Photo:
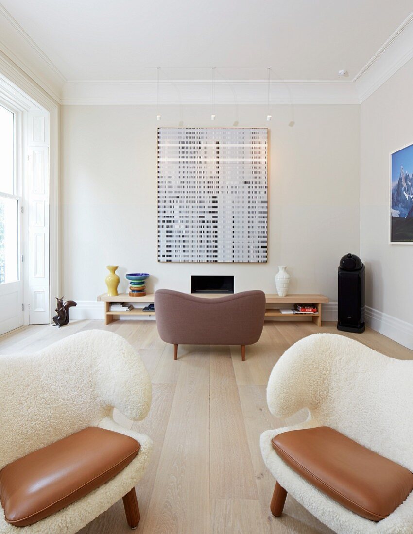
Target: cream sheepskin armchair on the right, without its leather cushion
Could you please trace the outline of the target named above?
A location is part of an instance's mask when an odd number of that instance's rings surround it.
[[[413,532],[413,492],[386,519],[369,521],[349,511],[294,472],[271,439],[288,430],[332,427],[413,472],[413,361],[388,358],[336,334],[298,341],[278,360],[267,387],[272,414],[288,418],[308,409],[300,425],[267,430],[260,444],[277,482],[339,534]]]

